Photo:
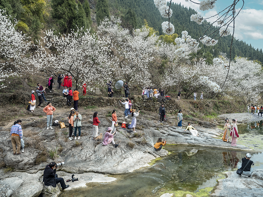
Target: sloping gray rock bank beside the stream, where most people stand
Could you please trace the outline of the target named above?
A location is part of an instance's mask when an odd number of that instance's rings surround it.
[[[110,108],[109,108],[110,109]],[[105,133],[108,126],[111,126],[111,117],[100,114],[108,114],[108,108],[96,109],[98,118],[101,121],[99,133]],[[120,108],[122,109],[122,108]],[[223,130],[216,128],[214,123],[205,123],[206,127],[193,124],[198,130],[201,137],[195,137],[188,131],[178,129],[175,126],[177,117],[169,116],[168,123],[158,123],[158,116],[155,114],[140,114],[137,117],[137,134],[127,133],[127,129],[118,127],[117,134],[114,136],[115,142],[120,146],[115,149],[112,145],[103,146],[100,141],[92,140],[92,110],[79,109],[82,114],[82,136],[80,140],[68,140],[68,128],[54,130],[46,130],[46,118],[41,117],[43,114],[40,110],[36,111],[39,116],[32,116],[22,119],[23,133],[25,140],[25,152],[20,156],[12,154],[12,146],[10,140],[10,130],[12,122],[5,127],[0,128],[1,140],[1,157],[0,169],[3,176],[0,178],[1,191],[6,188],[14,193],[15,190],[21,189],[21,184],[29,180],[41,182],[44,167],[47,163],[53,161],[47,158],[46,161],[39,162],[38,159],[44,153],[52,151],[56,148],[58,151],[57,163],[64,161],[65,165],[58,170],[58,175],[64,179],[69,179],[71,174],[76,174],[75,177],[89,177],[92,180],[84,180],[70,184],[67,190],[83,187],[84,185],[97,180],[96,176],[101,176],[105,180],[114,181],[112,177],[105,177],[106,174],[125,174],[133,172],[136,169],[149,166],[149,162],[160,157],[166,156],[168,151],[155,151],[153,145],[159,137],[167,141],[167,144],[191,144],[204,147],[218,147],[228,150],[244,150],[252,151],[251,147],[246,144],[238,144],[236,147],[231,147],[230,143],[223,142],[220,136]],[[30,112],[29,112],[30,113]],[[67,110],[60,109],[55,112],[54,120],[67,123]],[[157,116],[157,117],[156,117]],[[131,118],[123,118],[122,110],[117,111],[118,123],[130,122]],[[187,122],[183,121],[183,127],[186,128]],[[209,128],[207,128],[209,127]],[[4,165],[6,167],[4,167]],[[83,174],[96,173],[96,174]],[[18,180],[18,181],[17,181]],[[98,182],[98,181],[96,181]],[[100,181],[99,181],[100,182]],[[8,187],[6,187],[8,186]],[[38,187],[41,189],[41,186]],[[36,191],[35,188],[31,190]],[[59,189],[58,189],[59,190]],[[58,196],[59,191],[53,196]],[[1,195],[1,194],[0,194]],[[27,197],[28,194],[27,194]]]

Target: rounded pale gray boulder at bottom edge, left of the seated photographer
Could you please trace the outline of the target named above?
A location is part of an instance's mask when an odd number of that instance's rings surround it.
[[[38,181],[25,181],[13,193],[13,197],[37,197],[43,185]]]

